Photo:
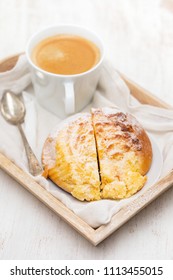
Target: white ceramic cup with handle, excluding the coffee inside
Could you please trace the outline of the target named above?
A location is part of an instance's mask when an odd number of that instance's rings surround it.
[[[86,38],[100,49],[100,60],[86,72],[74,75],[53,74],[39,68],[31,60],[33,48],[45,38],[58,34],[77,35]],[[26,47],[31,79],[36,98],[48,111],[66,117],[82,110],[91,101],[96,89],[104,58],[102,41],[93,32],[76,25],[50,26],[34,34]]]

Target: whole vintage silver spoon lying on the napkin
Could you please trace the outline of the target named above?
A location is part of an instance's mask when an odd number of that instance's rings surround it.
[[[5,91],[1,99],[0,109],[5,120],[16,125],[20,131],[28,159],[29,172],[33,176],[41,174],[43,172],[42,167],[34,155],[21,126],[26,112],[24,103],[13,92]]]

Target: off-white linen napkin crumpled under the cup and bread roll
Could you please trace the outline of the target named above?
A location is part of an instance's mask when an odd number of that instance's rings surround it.
[[[12,89],[16,93],[23,90],[26,105],[26,118],[23,124],[26,136],[38,159],[41,161],[41,151],[44,141],[54,126],[61,121],[37,104],[25,55],[21,55],[15,68],[0,74],[0,97],[4,89]],[[156,145],[154,159],[149,172],[148,183],[136,195],[121,201],[101,200],[95,202],[80,202],[70,194],[55,186],[51,181],[41,176],[34,178],[68,208],[85,220],[92,227],[106,224],[123,205],[132,201],[158,178],[172,169],[173,155],[173,110],[160,109],[149,105],[141,105],[130,95],[129,89],[116,70],[105,63],[98,88],[93,101],[84,111],[91,107],[118,106],[122,111],[132,113],[149,132],[152,139],[159,145],[162,157]],[[28,172],[27,159],[19,132],[15,126],[8,124],[0,116],[0,151],[12,159],[16,165]]]

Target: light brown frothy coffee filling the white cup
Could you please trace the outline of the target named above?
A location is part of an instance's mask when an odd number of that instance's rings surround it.
[[[61,34],[39,42],[32,51],[31,59],[47,72],[74,75],[96,65],[100,59],[100,50],[90,40]]]

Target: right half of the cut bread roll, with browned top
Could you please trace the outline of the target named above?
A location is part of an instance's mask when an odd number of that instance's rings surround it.
[[[117,109],[92,109],[99,168],[101,197],[127,198],[146,182],[152,161],[150,140],[130,114]]]

